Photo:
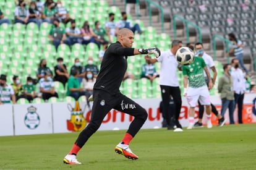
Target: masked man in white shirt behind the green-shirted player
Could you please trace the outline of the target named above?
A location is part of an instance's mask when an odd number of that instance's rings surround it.
[[[195,43],[195,56],[199,56],[203,58],[203,61],[205,61],[205,64],[207,65],[207,70],[209,73],[211,73],[211,70],[213,71],[213,85],[215,84],[216,81],[216,77],[217,77],[217,71],[215,69],[215,64],[213,62],[213,58],[211,56],[209,56],[207,53],[205,53],[205,51],[203,51],[203,44],[202,43]],[[203,75],[205,77],[205,81],[208,84],[208,78],[207,78],[207,74],[205,73],[205,71],[203,71]],[[205,111],[205,106],[203,106],[199,101],[198,101],[198,107],[199,107],[199,116],[198,116],[198,122],[195,123],[194,127],[203,127],[202,124],[202,119],[203,119],[203,113]],[[216,117],[218,117],[219,120],[219,125],[223,126],[226,122],[226,119],[224,119],[223,116],[221,116],[220,113],[218,113],[216,107],[211,103],[211,112],[213,114],[215,114]]]

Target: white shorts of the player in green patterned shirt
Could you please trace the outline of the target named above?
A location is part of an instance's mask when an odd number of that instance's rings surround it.
[[[187,102],[190,107],[195,107],[198,104],[198,101],[202,105],[210,105],[210,93],[207,86],[192,88],[189,87],[187,89]]]

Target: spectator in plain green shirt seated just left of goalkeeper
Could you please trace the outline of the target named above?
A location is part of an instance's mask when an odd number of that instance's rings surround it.
[[[78,100],[80,96],[85,95],[83,88],[80,88],[79,71],[77,69],[71,70],[71,76],[67,80],[67,93],[66,96],[72,96],[75,100]]]

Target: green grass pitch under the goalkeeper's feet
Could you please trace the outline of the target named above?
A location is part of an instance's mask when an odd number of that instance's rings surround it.
[[[256,124],[173,132],[142,129],[130,143],[139,156],[114,153],[125,130],[98,131],[63,164],[78,133],[0,137],[0,169],[256,169]]]

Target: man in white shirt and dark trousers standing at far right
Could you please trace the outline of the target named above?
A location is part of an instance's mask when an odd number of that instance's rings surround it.
[[[232,59],[231,65],[231,77],[233,78],[235,104],[237,104],[238,108],[238,122],[239,124],[242,124],[242,106],[244,103],[244,92],[246,90],[244,74],[242,70],[239,69],[238,59]]]

